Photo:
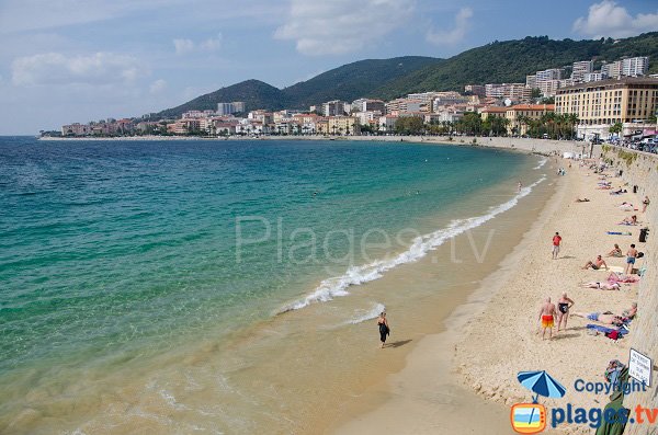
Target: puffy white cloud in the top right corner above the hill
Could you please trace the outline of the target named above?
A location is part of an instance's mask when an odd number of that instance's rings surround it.
[[[587,16],[580,16],[574,22],[574,32],[594,38],[627,37],[657,28],[658,11],[632,16],[626,8],[617,5],[612,0],[592,4]]]

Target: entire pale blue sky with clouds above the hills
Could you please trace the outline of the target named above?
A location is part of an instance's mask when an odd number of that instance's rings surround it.
[[[658,31],[646,0],[0,0],[0,135],[133,117],[371,58]]]

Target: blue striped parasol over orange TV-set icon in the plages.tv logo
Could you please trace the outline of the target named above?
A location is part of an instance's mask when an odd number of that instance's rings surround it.
[[[519,382],[535,396],[532,403],[517,403],[512,407],[510,420],[512,428],[520,434],[537,434],[546,428],[546,407],[537,403],[537,398],[561,398],[567,392],[557,380],[545,370],[520,371]]]

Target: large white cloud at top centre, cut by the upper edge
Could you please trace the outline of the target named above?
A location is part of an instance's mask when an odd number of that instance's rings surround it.
[[[358,51],[404,25],[415,5],[415,0],[292,0],[274,37],[295,41],[304,55]]]

